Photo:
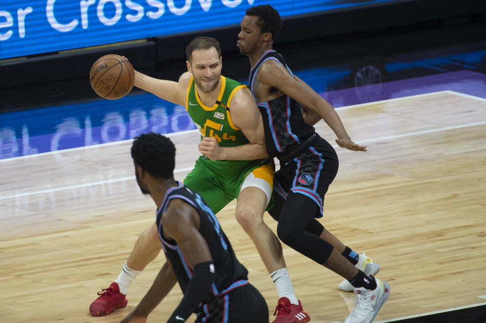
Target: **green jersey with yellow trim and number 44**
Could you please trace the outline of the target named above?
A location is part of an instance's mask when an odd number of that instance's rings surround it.
[[[216,138],[221,147],[248,144],[243,132],[231,121],[230,104],[235,93],[247,87],[230,78],[221,77],[221,90],[212,107],[207,107],[197,94],[194,78],[191,76],[187,87],[186,110],[203,137]]]

